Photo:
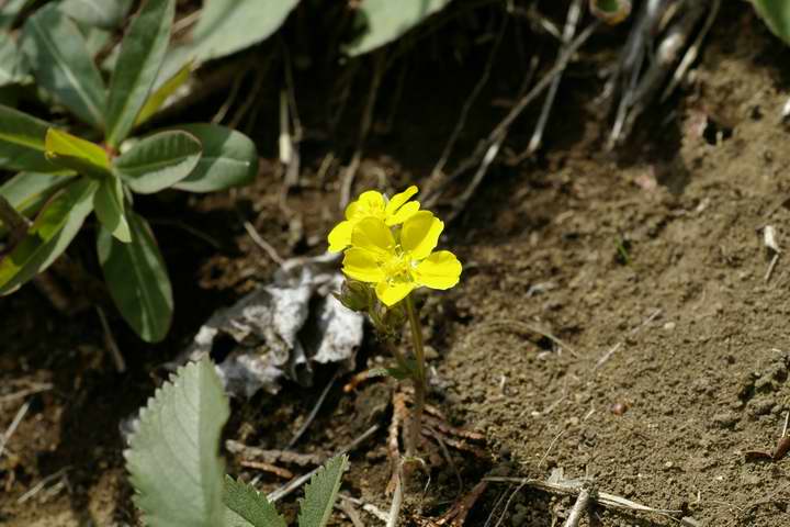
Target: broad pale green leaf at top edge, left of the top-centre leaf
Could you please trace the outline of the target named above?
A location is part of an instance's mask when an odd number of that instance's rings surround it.
[[[298,0],[203,0],[192,33],[194,58],[224,57],[257,44],[285,22]]]

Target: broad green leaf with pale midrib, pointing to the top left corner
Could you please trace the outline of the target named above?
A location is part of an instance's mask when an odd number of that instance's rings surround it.
[[[42,88],[86,123],[104,128],[104,82],[74,21],[57,5],[45,5],[25,22],[22,49]]]

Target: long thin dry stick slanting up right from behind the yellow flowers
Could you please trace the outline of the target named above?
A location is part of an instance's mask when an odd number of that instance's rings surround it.
[[[543,91],[549,88],[554,77],[565,69],[567,63],[571,60],[573,55],[578,51],[579,47],[584,45],[585,42],[587,42],[587,40],[592,35],[592,33],[595,33],[595,31],[600,26],[600,24],[601,21],[596,20],[590,25],[588,25],[585,31],[583,31],[572,44],[568,45],[567,49],[565,49],[562,56],[557,59],[557,63],[554,65],[554,67],[552,67],[526,96],[519,99],[516,105],[510,109],[505,119],[503,119],[499,124],[488,134],[488,137],[477,144],[477,148],[475,148],[475,152],[464,161],[459,164],[459,167],[453,171],[451,176],[449,176],[447,179],[444,179],[444,181],[437,186],[437,191],[435,192],[435,194],[426,200],[427,206],[432,206],[433,204],[436,204],[439,199],[439,193],[450,182],[452,182],[466,170],[476,165],[478,162],[478,159],[482,159],[483,161],[481,165],[481,169],[478,169],[473,183],[465,192],[465,194],[471,197],[479,182],[483,180],[483,177],[485,176],[485,170],[487,169],[488,165],[490,165],[490,162],[496,157],[499,146],[507,137],[510,125],[512,125],[512,123],[521,115],[521,113],[527,109],[527,106],[529,106],[532,101],[534,101],[541,93],[543,93]],[[456,212],[453,214],[453,217],[458,216],[458,210],[459,208],[455,208]]]

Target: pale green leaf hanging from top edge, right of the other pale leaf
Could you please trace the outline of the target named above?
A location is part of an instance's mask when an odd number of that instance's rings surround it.
[[[362,55],[388,44],[448,3],[450,0],[365,0],[358,11],[365,32],[346,52]]]

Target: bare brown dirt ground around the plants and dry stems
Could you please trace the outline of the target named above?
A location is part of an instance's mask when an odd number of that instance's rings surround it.
[[[747,453],[772,451],[790,412],[790,269],[782,254],[768,277],[764,245],[770,226],[778,245],[790,246],[790,124],[781,117],[790,52],[748,5],[727,7],[691,86],[610,154],[601,146],[606,115],[595,102],[602,82],[590,72],[610,44],[601,38],[568,71],[546,153],[495,166],[447,232],[443,244],[465,271],[460,287],[431,295],[422,309],[433,351],[430,397],[450,425],[481,433],[485,442],[444,445],[448,455],[426,446],[430,482],[422,482],[425,492],[413,490],[405,525],[441,516],[461,493],[459,479],[467,492],[486,474],[544,480],[554,469],[698,522],[686,525],[790,525],[790,460]],[[388,190],[426,178],[475,71],[469,64],[437,71],[430,57],[416,61],[409,79],[424,82],[404,91],[391,130],[368,145],[358,190],[377,186],[382,175]],[[473,112],[461,146],[471,149],[497,122],[503,109],[489,103],[508,93],[507,81],[484,93],[488,102]],[[305,105],[309,130],[313,109]],[[377,119],[383,127],[386,109]],[[514,131],[515,149],[529,138],[524,121]],[[346,133],[354,131],[356,124]],[[180,220],[217,244],[154,222],[167,261],[179,266],[171,268],[176,326],[150,347],[114,321],[126,373],[115,372],[93,311],[60,315],[31,287],[2,300],[0,430],[30,405],[0,458],[0,525],[136,525],[120,423],[214,309],[273,271],[241,228],[239,211],[282,256],[321,250],[338,217],[337,175],[317,176],[323,141],[306,143],[305,176],[286,201],[289,213],[278,205],[274,156],[264,153],[252,188],[182,199],[189,212]],[[149,206],[165,216],[160,205]],[[86,244],[86,260],[90,249]],[[377,355],[371,338],[360,367]],[[321,372],[316,384],[331,373]],[[386,511],[392,384],[371,382],[352,394],[340,384],[296,450],[326,453],[379,424],[352,453],[343,492]],[[291,385],[278,397],[235,402],[226,436],[282,448],[318,392]],[[256,474],[233,458],[229,467]],[[283,480],[269,474],[261,482],[269,491]],[[515,490],[490,483],[466,525],[561,525],[573,504],[529,486]],[[360,514],[365,525],[381,525]],[[351,525],[340,513],[335,522]],[[596,507],[583,525],[678,522]]]

